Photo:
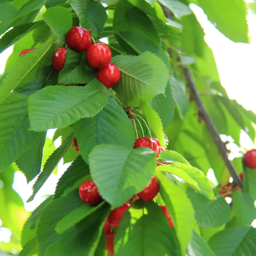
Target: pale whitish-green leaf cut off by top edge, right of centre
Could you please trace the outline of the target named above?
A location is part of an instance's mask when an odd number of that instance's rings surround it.
[[[185,3],[182,3],[181,1],[160,0],[159,2],[163,6],[166,6],[168,9],[170,9],[178,19],[181,19],[181,17],[184,15],[189,15],[192,13],[192,11],[189,9],[189,6],[187,6]]]

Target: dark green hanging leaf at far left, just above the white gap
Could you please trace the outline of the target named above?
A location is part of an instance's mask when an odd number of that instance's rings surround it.
[[[20,171],[26,176],[27,183],[41,171],[45,136],[45,132],[38,133],[35,144],[23,152],[15,161]]]

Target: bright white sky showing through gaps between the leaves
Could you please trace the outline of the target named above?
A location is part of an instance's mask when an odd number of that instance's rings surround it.
[[[236,99],[247,110],[256,113],[256,15],[248,14],[247,21],[249,24],[249,35],[251,37],[250,44],[234,43],[226,38],[221,32],[207,20],[207,16],[198,6],[190,5],[191,9],[198,17],[199,22],[204,28],[206,34],[205,41],[212,48],[215,61],[217,63],[218,72],[220,74],[221,83],[227,90],[230,99]],[[0,54],[0,74],[3,73],[6,60],[12,53],[12,47],[9,47]],[[53,136],[54,131],[50,130],[47,135]],[[60,145],[60,140],[55,146]],[[241,145],[250,149],[253,144],[247,141],[246,136],[242,139]],[[43,200],[45,195],[52,194],[55,190],[56,183],[67,169],[69,164],[63,166],[63,161],[58,166],[58,175],[51,175],[43,188],[38,192],[34,201],[25,203],[32,194],[33,181],[26,183],[26,177],[21,172],[15,173],[15,181],[13,188],[20,194],[24,201],[25,208],[28,211],[35,209]],[[1,236],[0,241],[6,240],[6,232]],[[8,240],[8,239],[7,239]]]

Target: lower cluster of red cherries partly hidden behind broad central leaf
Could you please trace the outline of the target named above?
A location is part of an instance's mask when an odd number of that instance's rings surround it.
[[[79,147],[77,145],[77,140],[73,141],[73,147],[76,151],[79,151]],[[160,143],[157,139],[151,139],[148,137],[138,138],[134,143],[134,148],[146,147],[150,148],[153,151],[157,152],[157,157],[159,153],[165,148],[160,146]],[[159,164],[167,164],[167,163],[159,163]],[[120,207],[117,207],[113,211],[110,212],[108,218],[104,224],[104,232],[106,238],[106,250],[108,254],[114,255],[114,238],[115,238],[115,230],[119,226],[119,223],[122,219],[122,216],[125,214],[125,211],[131,206],[131,202],[136,201],[140,198],[142,201],[151,201],[159,192],[160,185],[157,181],[157,178],[154,176],[151,178],[151,182],[148,186],[145,187],[141,192],[134,196],[131,200],[126,202]],[[93,180],[86,180],[79,187],[79,195],[82,201],[87,204],[97,205],[103,201],[101,195],[98,192],[98,188]],[[170,228],[173,227],[173,222],[171,216],[166,208],[166,206],[160,206],[163,214],[166,216]]]

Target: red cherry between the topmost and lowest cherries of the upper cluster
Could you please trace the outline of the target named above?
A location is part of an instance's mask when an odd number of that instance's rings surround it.
[[[91,67],[105,67],[110,63],[111,58],[111,49],[106,44],[91,44],[86,51],[86,60]]]

